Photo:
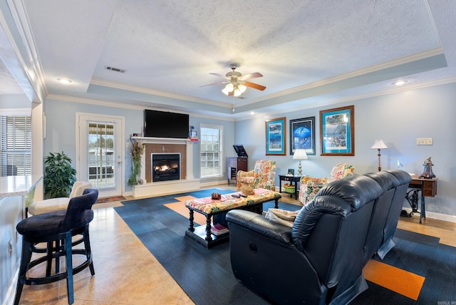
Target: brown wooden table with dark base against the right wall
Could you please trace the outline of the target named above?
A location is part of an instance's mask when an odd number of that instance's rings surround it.
[[[411,189],[405,195],[405,199],[412,207],[412,212],[403,212],[404,216],[412,217],[414,212],[418,212],[418,192],[421,192],[420,223],[422,218],[426,218],[425,197],[435,197],[437,195],[438,178],[423,178],[413,176],[408,187]]]

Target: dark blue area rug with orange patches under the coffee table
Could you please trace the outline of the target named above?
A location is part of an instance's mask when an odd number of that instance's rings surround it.
[[[229,242],[205,249],[185,237],[189,226],[182,205],[190,197],[208,197],[202,190],[179,195],[124,201],[115,207],[145,247],[177,281],[195,304],[269,304],[234,278],[229,259]],[[175,205],[181,212],[175,212]],[[273,207],[266,202],[264,210]],[[300,207],[279,202],[279,208]],[[195,213],[197,214],[197,213]],[[456,249],[440,244],[439,239],[397,229],[396,246],[381,261],[368,263],[364,274],[369,289],[351,304],[437,304],[456,301],[452,286],[456,282]],[[394,284],[401,283],[402,285]],[[442,303],[445,304],[445,303]]]

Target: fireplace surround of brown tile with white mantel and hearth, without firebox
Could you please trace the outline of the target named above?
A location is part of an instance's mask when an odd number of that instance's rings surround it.
[[[193,142],[189,139],[133,137],[145,144],[141,158],[140,178],[144,183],[133,186],[133,197],[145,197],[199,189],[193,177]],[[152,182],[152,153],[180,153],[180,180]]]

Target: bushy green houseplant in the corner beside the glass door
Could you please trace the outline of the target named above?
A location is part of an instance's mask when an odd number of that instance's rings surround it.
[[[68,197],[76,181],[71,158],[61,153],[49,153],[44,160],[44,195],[46,198]]]

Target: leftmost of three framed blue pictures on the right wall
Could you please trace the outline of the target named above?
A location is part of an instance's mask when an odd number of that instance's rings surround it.
[[[266,120],[266,155],[285,155],[286,118]]]

